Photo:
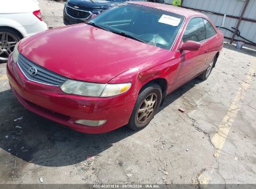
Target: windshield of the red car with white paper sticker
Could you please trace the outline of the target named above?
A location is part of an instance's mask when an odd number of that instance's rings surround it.
[[[183,16],[172,12],[125,3],[99,14],[88,24],[169,50],[183,21]]]

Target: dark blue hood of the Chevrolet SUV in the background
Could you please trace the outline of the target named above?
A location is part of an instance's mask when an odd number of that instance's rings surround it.
[[[115,6],[115,4],[120,2],[106,0],[71,0],[69,3],[72,6],[90,7],[92,9],[108,9],[109,7]]]

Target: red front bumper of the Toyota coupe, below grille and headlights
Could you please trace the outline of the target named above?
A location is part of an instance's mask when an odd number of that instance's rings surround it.
[[[19,102],[33,113],[69,126],[79,132],[103,133],[124,126],[130,119],[136,98],[131,89],[111,98],[92,98],[63,93],[58,86],[29,81],[10,56],[7,63],[10,86]],[[76,124],[77,119],[104,120],[102,126]]]

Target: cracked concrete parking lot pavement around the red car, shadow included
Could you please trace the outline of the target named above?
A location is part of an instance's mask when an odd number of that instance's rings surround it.
[[[64,3],[39,2],[62,26]],[[255,50],[225,44],[211,76],[170,94],[142,131],[82,134],[23,108],[2,63],[0,183],[255,184],[255,70]]]

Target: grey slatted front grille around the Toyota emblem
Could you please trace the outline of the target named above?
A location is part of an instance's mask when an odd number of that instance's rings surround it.
[[[61,76],[57,73],[54,73],[53,71],[47,70],[37,65],[36,63],[21,55],[21,53],[19,54],[17,64],[28,80],[53,86],[60,86],[65,81],[67,81],[67,78],[64,76]],[[31,75],[29,73],[29,69],[32,67],[36,68],[36,75]]]

